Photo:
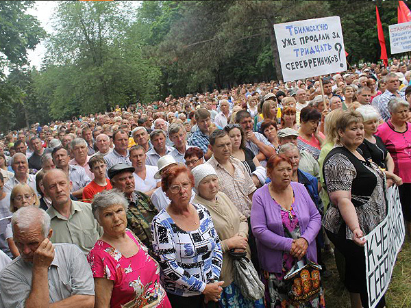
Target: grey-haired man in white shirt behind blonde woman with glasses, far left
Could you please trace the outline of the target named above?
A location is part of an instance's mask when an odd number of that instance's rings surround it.
[[[26,155],[23,153],[14,154],[11,166],[14,171],[14,176],[4,184],[4,191],[11,193],[14,186],[21,183],[28,184],[35,192],[37,192],[36,176],[27,173],[29,170],[29,162],[27,161]]]

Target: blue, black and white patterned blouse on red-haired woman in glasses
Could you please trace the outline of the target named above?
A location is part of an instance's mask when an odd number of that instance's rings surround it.
[[[162,209],[151,223],[153,251],[160,257],[164,289],[178,296],[201,294],[206,284],[220,277],[223,255],[219,235],[206,207],[193,204],[199,214],[199,229],[184,231]]]

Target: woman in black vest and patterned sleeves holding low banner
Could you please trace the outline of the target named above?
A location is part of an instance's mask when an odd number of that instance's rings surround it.
[[[331,201],[323,219],[325,232],[345,257],[344,284],[351,307],[369,307],[364,235],[386,217],[386,183],[382,170],[357,151],[364,140],[360,113],[343,112],[336,122],[338,141],[325,157],[323,172]],[[377,307],[384,307],[384,297]]]

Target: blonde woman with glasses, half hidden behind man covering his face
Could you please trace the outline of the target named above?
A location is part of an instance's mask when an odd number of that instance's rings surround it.
[[[28,207],[29,205],[40,205],[38,196],[33,188],[27,184],[17,184],[14,186],[10,194],[10,211],[14,213],[21,207]],[[5,240],[8,242],[10,252],[13,257],[18,257],[18,249],[13,240],[12,224],[8,224],[5,228]]]

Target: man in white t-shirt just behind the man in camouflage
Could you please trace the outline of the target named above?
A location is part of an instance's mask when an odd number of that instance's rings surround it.
[[[134,167],[133,175],[136,190],[144,192],[147,196],[151,196],[154,190],[161,185],[160,179],[154,179],[158,167],[145,164],[145,149],[140,145],[132,146],[132,148],[129,149],[129,155],[132,166]]]

